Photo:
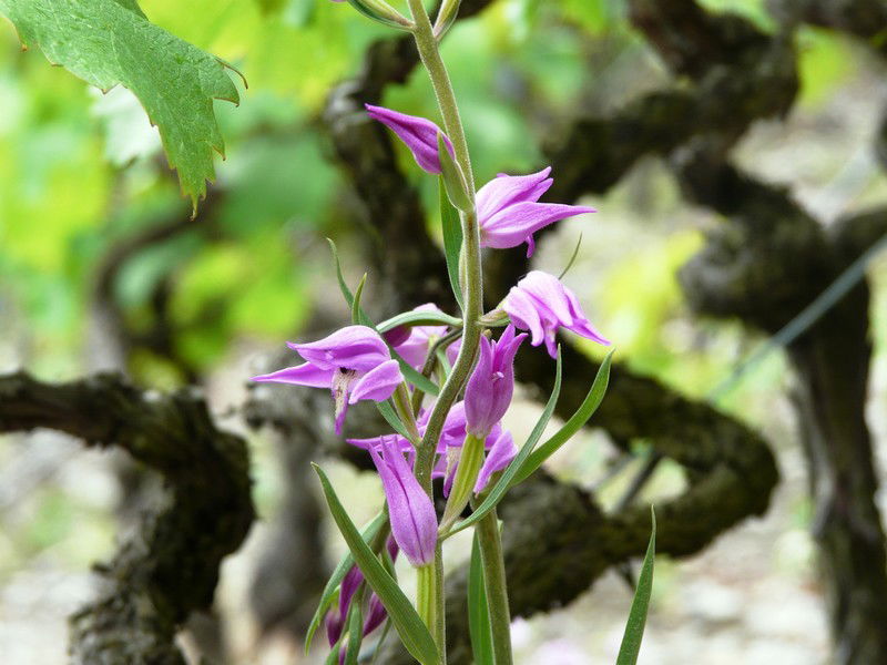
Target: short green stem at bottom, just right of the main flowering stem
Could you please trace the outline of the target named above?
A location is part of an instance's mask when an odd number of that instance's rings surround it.
[[[476,529],[480,543],[480,559],[483,563],[496,665],[511,665],[511,612],[508,607],[506,565],[496,509],[487,513]]]

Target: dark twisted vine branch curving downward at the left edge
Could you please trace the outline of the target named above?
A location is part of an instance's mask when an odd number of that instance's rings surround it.
[[[37,428],[118,446],[164,480],[163,501],[96,566],[103,589],[71,618],[71,663],[184,665],[175,633],[211,606],[218,566],[253,521],[245,442],[216,429],[188,390],[142,392],[115,375],[0,377],[0,432]]]

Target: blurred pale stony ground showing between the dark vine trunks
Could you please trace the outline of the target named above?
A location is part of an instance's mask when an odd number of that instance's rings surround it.
[[[867,146],[874,121],[887,100],[887,85],[871,73],[873,70],[868,71],[869,75],[848,83],[842,94],[815,113],[798,112],[788,125],[759,124],[744,141],[741,161],[765,177],[791,183],[803,203],[826,219],[865,203],[883,201],[884,178],[877,174]],[[816,155],[813,158],[808,158],[807,153],[799,155],[798,145],[813,145]],[[823,155],[828,158],[822,158]],[[649,168],[660,167],[652,163],[639,166],[639,171]],[[631,192],[635,185],[624,184],[623,193]],[[605,209],[605,202],[594,203]],[[716,223],[711,216],[685,208],[675,212],[653,206],[651,217],[642,226],[620,219],[621,224],[608,227],[601,219],[599,239],[603,237],[610,254],[600,246],[589,248],[587,242],[568,282],[587,284],[584,278],[615,260],[629,241],[633,249],[655,249],[674,226],[699,228]],[[562,257],[569,255],[577,236],[575,225],[567,225],[559,239],[542,248],[541,264],[562,265]],[[589,267],[590,264],[597,267]],[[877,304],[873,314],[879,338],[885,339],[885,257],[878,260],[875,273]],[[592,313],[595,300],[593,288],[583,290],[583,304]],[[614,328],[619,328],[616,324],[613,323]],[[695,335],[692,325],[682,320],[672,324],[669,334],[683,330],[679,335],[684,340],[681,344],[692,348],[686,341]],[[0,370],[4,371],[11,369],[20,356],[11,344],[3,344],[0,339]],[[738,357],[745,355],[742,347],[740,351]],[[245,366],[246,362],[239,360],[226,370],[225,378],[214,381],[213,396],[218,409],[238,401],[242,377],[248,375]],[[744,522],[695,557],[656,562],[654,598],[640,658],[643,665],[816,665],[827,662],[826,624],[813,567],[813,548],[806,532],[808,505],[804,466],[791,409],[779,397],[791,379],[779,374],[779,367],[777,362],[775,385],[771,380],[763,396],[750,397],[746,411],[774,442],[778,454],[783,479],[772,508],[764,519]],[[773,372],[772,366],[768,371]],[[755,385],[755,378],[748,381]],[[887,354],[879,348],[871,381],[869,423],[878,450],[883,487],[887,487],[884,471],[887,469],[886,402]],[[511,419],[516,431],[527,427],[530,410],[514,410],[520,413]],[[275,487],[279,487],[281,481],[275,478],[268,443],[261,438],[253,443],[258,503],[267,515],[273,510]],[[553,467],[570,480],[588,484],[600,471],[605,451],[600,438],[585,437],[561,451]],[[337,484],[353,488],[354,497],[363,492],[378,495],[378,488],[369,475],[358,478],[344,467],[335,467],[333,478]],[[47,500],[48,487],[60,492],[55,503]],[[680,473],[665,468],[653,490],[669,492],[677,487]],[[611,500],[618,490],[619,481],[608,489]],[[88,573],[90,562],[113,551],[114,525],[109,515],[118,498],[106,454],[84,452],[77,442],[50,433],[29,439],[0,439],[0,521],[3,524],[0,531],[0,663],[57,665],[64,662],[65,617],[93,595],[94,580]],[[887,512],[887,491],[883,490],[878,499],[881,510]],[[367,509],[367,514],[361,514],[363,509],[356,501],[348,503],[355,507],[357,520],[371,512]],[[23,556],[17,539],[37,516],[42,515],[45,522],[47,516],[41,511],[47,510],[65,514],[73,528],[60,528],[58,533],[50,530],[45,542]],[[243,614],[244,583],[265,529],[264,523],[257,523],[242,551],[225,563],[220,606],[227,615],[230,642],[238,654],[238,663],[296,663],[300,654],[296,645],[278,641],[266,645],[258,654],[249,648],[252,631]],[[332,532],[330,543],[334,550],[340,550],[341,544]],[[518,662],[612,663],[630,602],[631,593],[625,584],[610,574],[570,607],[516,622],[513,638]]]

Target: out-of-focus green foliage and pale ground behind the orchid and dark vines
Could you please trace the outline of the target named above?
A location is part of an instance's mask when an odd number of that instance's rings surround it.
[[[778,29],[757,0],[701,3],[736,12],[766,34]],[[279,355],[285,340],[347,319],[324,238],[339,245],[351,283],[365,258],[354,231],[355,196],[322,117],[334,86],[354,76],[367,47],[389,33],[347,6],[320,0],[194,0],[186,11],[172,0],[140,4],[152,22],[231,62],[248,82],[248,89],[237,82],[238,106],[215,103],[225,158],[217,160],[216,182],[191,222],[190,203],[135,98],[121,88],[90,89],[50,66],[37,48],[20,52],[14,29],[0,21],[0,374],[24,368],[64,381],[118,370],[142,387],[202,386],[220,424],[248,440],[258,516],[245,544],[225,560],[215,617],[204,622],[214,637],[202,633],[198,618],[182,644],[191,654],[206,653],[215,640],[231,663],[302,662],[295,630],[266,630],[251,600],[290,479],[273,436],[246,427],[241,407],[248,377],[269,355],[295,360]],[[478,182],[539,168],[549,132],[578,111],[606,115],[675,84],[626,16],[620,0],[497,0],[456,25],[443,57]],[[787,187],[828,226],[887,200],[873,149],[887,105],[885,63],[838,31],[804,24],[795,40],[801,88],[791,113],[754,123],[732,160]],[[387,86],[384,103],[437,115],[420,70]],[[434,211],[435,180],[396,150]],[[581,235],[564,280],[614,341],[618,358],[759,430],[782,477],[763,518],[744,521],[692,557],[660,557],[641,662],[828,662],[809,535],[814,510],[789,400],[796,379],[778,348],[731,379],[766,337],[740,320],[697,316],[676,278],[720,215],[689,204],[659,156],[638,160],[605,193],[582,202],[599,212],[546,235],[533,265],[558,274]],[[430,214],[435,237],[436,224]],[[883,488],[887,256],[870,262],[868,276],[874,354],[866,415]],[[509,415],[512,430],[529,431],[539,410],[534,395],[521,393]],[[642,453],[643,442],[635,448]],[[613,472],[616,457],[605,432],[589,431],[558,453],[551,471],[594,489],[612,507],[643,462],[639,454]],[[380,497],[375,478],[344,461],[327,466],[337,487],[349,488],[344,499],[355,521],[370,516]],[[65,662],[67,617],[95,593],[91,565],[112,556],[149,501],[134,495],[136,487],[150,495],[149,481],[132,482],[142,475],[123,453],[88,450],[62,434],[0,437],[3,663]],[[685,482],[681,468],[665,460],[639,501],[677,493]],[[884,513],[887,493],[881,489],[876,499]],[[323,530],[323,565],[329,565],[343,543],[330,526]],[[465,543],[453,544],[452,556],[465,556]],[[611,571],[570,606],[518,620],[519,662],[612,662],[631,595]]]

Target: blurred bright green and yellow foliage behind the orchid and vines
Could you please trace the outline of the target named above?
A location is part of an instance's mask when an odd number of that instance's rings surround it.
[[[774,29],[763,0],[704,4]],[[325,0],[195,0],[187,11],[172,0],[144,0],[141,7],[152,22],[231,62],[248,82],[239,106],[215,104],[227,160],[217,163],[206,219],[146,245],[113,275],[111,297],[131,334],[150,336],[160,318],[173,332],[172,349],[145,345],[129,359],[130,369],[144,381],[174,385],[187,378],[180,365],[205,372],[238,340],[278,344],[295,335],[326,291],[332,272],[316,238],[343,233],[349,213],[318,115],[367,44],[389,32]],[[480,182],[539,167],[539,144],[552,126],[580,106],[612,108],[598,91],[630,95],[659,81],[655,58],[624,14],[621,0],[499,0],[452,31],[443,55]],[[825,103],[857,66],[847,43],[823,31],[802,31],[798,50],[805,105]],[[7,22],[0,24],[0,320],[27,337],[19,346],[34,371],[72,376],[89,369],[88,313],[108,256],[181,221],[188,206],[137,102],[119,89],[108,95],[88,89],[39,52],[20,53]],[[390,88],[384,102],[436,117],[419,71]],[[397,149],[434,211],[434,178]],[[652,183],[653,195],[679,209],[669,176],[657,173]],[[643,215],[630,192],[603,201],[609,207],[594,202],[602,213],[583,229],[591,257],[609,238],[599,225]],[[695,347],[703,352],[687,354],[693,345],[681,326],[690,325],[689,315],[674,278],[662,276],[699,246],[694,224],[679,222],[599,277],[605,289],[594,308],[639,370],[703,395],[743,347],[737,328],[708,325],[706,344]],[[782,366],[773,367],[777,381]]]

